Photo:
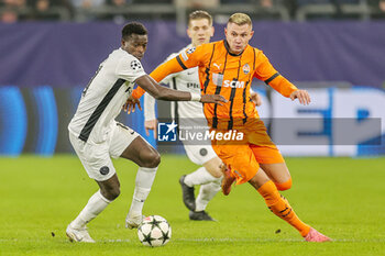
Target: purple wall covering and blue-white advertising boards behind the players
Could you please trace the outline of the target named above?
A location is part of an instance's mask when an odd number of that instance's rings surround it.
[[[170,53],[189,43],[176,33],[174,21],[144,21],[150,32],[143,59],[147,73]],[[292,102],[255,81],[263,96],[260,113],[285,155],[362,156],[385,154],[385,30],[382,21],[254,22],[251,45],[298,87],[309,89],[309,107]],[[0,154],[33,153],[51,156],[72,152],[67,124],[80,92],[108,54],[119,47],[122,25],[113,22],[0,24]],[[216,24],[213,40],[223,36]],[[158,103],[160,118],[169,116],[167,102]],[[293,119],[290,140],[282,142]],[[296,119],[316,119],[295,125]],[[349,118],[350,125],[338,125]],[[377,119],[377,122],[371,122]],[[120,121],[142,135],[143,114],[121,114]],[[373,127],[375,126],[375,127]],[[350,129],[349,129],[350,127]],[[370,127],[373,130],[371,131]],[[280,136],[279,136],[280,134]],[[339,136],[348,134],[341,142]],[[348,136],[345,135],[345,136]],[[153,136],[147,137],[155,145]],[[307,145],[306,147],[304,145]],[[312,146],[311,146],[312,145]],[[310,148],[310,149],[309,149]],[[180,146],[160,147],[183,153]]]

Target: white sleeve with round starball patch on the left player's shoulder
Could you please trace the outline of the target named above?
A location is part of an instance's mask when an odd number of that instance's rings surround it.
[[[139,77],[146,75],[141,62],[134,56],[120,58],[116,74],[119,78],[130,82],[134,82]]]

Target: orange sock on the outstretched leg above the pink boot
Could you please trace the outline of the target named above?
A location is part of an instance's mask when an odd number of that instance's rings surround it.
[[[275,215],[279,216],[293,225],[295,229],[297,229],[301,236],[306,236],[309,233],[310,226],[299,220],[297,214],[293,211],[288,201],[279,194],[272,180],[268,180],[266,183],[262,185],[257,191],[265,199],[268,209]]]

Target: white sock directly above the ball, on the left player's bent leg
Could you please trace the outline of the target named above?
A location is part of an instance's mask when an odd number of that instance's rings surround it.
[[[153,186],[156,170],[157,167],[139,167],[135,179],[134,196],[132,198],[132,203],[129,212],[130,215],[142,215],[144,201],[147,199],[151,187]]]

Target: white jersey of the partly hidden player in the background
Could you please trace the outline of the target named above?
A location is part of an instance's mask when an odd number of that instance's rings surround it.
[[[191,48],[191,45],[186,46],[179,53],[172,54],[167,57],[167,60],[176,57],[182,52]],[[200,81],[198,67],[189,68],[180,73],[170,74],[165,77],[162,84],[168,84],[174,90],[196,92],[200,94]],[[146,121],[154,120],[155,118],[155,99],[148,93],[144,94],[144,118]],[[172,102],[172,116],[180,119],[206,119],[204,114],[204,104],[197,101],[173,101]]]

